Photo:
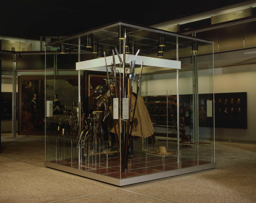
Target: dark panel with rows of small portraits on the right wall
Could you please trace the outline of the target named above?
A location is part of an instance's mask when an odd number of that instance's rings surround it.
[[[198,95],[198,121],[200,127],[213,127],[213,105],[207,109],[207,101],[213,101],[212,94]],[[185,111],[185,125],[192,123],[192,95],[180,95],[181,107]],[[208,115],[207,115],[208,111]],[[214,94],[215,127],[247,128],[247,93],[215,93]]]

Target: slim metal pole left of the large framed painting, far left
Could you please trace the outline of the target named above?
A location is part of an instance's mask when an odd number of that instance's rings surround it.
[[[16,86],[17,86],[17,59],[16,59],[16,53],[13,54],[13,75],[12,75],[12,137],[16,137],[17,132],[17,118],[16,118],[16,112],[17,112],[17,92],[16,92]]]

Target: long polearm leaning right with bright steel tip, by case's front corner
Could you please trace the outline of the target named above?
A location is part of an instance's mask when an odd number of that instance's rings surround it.
[[[129,145],[129,140],[130,140],[130,136],[131,134],[129,134],[129,130],[130,130],[130,110],[131,110],[131,104],[132,104],[132,89],[133,89],[133,82],[135,80],[135,60],[137,55],[139,54],[139,51],[137,51],[137,53],[134,56],[134,59],[131,61],[130,67],[132,69],[131,75],[130,75],[130,96],[129,96],[129,119],[127,120],[127,126],[126,126],[126,137],[125,137],[125,149],[124,149],[124,168],[127,168],[127,159],[128,159],[128,145]]]

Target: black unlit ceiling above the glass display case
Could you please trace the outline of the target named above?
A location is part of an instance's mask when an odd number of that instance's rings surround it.
[[[0,36],[68,36],[117,21],[150,26],[245,1],[2,1]]]

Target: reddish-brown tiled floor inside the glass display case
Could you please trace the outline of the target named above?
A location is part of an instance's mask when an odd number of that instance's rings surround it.
[[[210,161],[197,161],[186,158],[181,158],[178,163],[177,155],[166,156],[163,158],[162,156],[136,153],[129,157],[125,172],[120,173],[121,169],[117,155],[112,155],[108,158],[106,156],[101,156],[100,160],[97,159],[96,163],[95,160],[92,159],[89,159],[89,161],[87,160],[86,162],[83,161],[82,164],[79,164],[77,159],[73,159],[73,162],[71,162],[70,159],[54,160],[51,162],[115,178],[136,177],[210,163]]]

